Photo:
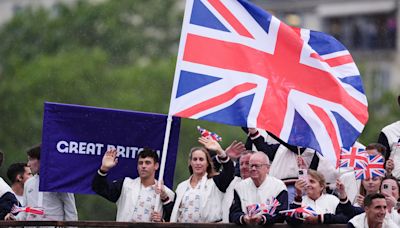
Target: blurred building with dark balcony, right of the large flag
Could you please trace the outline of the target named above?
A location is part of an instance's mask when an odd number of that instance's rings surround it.
[[[292,26],[335,36],[351,52],[369,99],[400,88],[399,0],[253,0]]]

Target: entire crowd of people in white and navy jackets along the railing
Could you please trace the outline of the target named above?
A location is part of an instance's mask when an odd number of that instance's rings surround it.
[[[200,137],[202,146],[189,152],[190,176],[175,192],[155,179],[159,158],[152,149],[139,153],[137,178],[120,180],[107,177],[118,164],[117,151],[108,150],[92,189],[116,203],[116,221],[124,222],[400,227],[400,121],[383,128],[378,143],[365,148],[385,158],[385,176],[362,180],[352,168],[338,170],[315,150],[255,128],[243,130],[247,141],[233,141],[225,150],[213,138]],[[1,218],[77,220],[73,194],[39,191],[40,146],[27,155],[28,163],[9,167],[11,187],[0,178]],[[45,213],[12,213],[15,205]]]

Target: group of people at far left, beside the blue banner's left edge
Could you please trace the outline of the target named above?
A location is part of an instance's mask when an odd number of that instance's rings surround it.
[[[0,155],[2,162],[4,155],[2,152]],[[74,194],[39,191],[40,145],[30,148],[27,157],[27,163],[14,163],[8,168],[11,187],[0,178],[0,218],[21,221],[78,220]],[[23,206],[34,208],[39,213],[18,213],[14,210]]]

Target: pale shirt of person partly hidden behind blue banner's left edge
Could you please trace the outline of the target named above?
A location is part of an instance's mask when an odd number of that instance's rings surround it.
[[[72,193],[39,192],[39,175],[29,178],[24,186],[25,206],[42,208],[44,215],[21,213],[21,220],[76,221],[78,213]]]

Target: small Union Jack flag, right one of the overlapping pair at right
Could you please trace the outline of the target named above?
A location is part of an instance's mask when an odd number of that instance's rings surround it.
[[[384,177],[385,176],[385,168],[384,168],[385,159],[382,155],[370,155],[368,156],[368,164],[364,169],[355,170],[356,179],[369,179],[373,177]]]

